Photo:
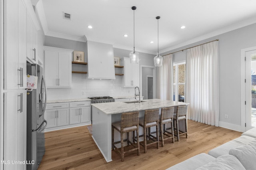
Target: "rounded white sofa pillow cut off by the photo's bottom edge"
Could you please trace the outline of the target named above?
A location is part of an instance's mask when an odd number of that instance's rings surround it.
[[[245,168],[235,156],[225,154],[196,170],[245,170]]]

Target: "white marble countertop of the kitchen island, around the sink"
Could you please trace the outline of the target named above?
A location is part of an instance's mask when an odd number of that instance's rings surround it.
[[[132,111],[144,111],[148,109],[160,109],[164,107],[172,107],[178,105],[188,105],[189,103],[168,101],[161,99],[148,99],[143,100],[141,103],[124,103],[122,101],[111,102],[111,103],[94,103],[92,106],[100,109],[107,115],[126,113]]]

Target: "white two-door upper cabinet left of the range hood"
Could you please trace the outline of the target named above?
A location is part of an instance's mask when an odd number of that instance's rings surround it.
[[[71,87],[72,51],[44,46],[44,72],[47,87]]]

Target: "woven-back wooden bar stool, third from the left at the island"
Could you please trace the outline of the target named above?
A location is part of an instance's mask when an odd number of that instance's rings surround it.
[[[173,113],[174,113],[174,107],[166,107],[161,109],[161,115],[159,115],[159,125],[160,125],[160,134],[161,134],[160,140],[162,142],[162,147],[164,147],[164,140],[166,139],[172,139],[172,143],[174,143]],[[165,127],[165,125],[168,123],[171,124],[170,128]],[[172,132],[167,131],[170,129],[172,130]],[[164,136],[167,136],[167,137],[164,138]]]

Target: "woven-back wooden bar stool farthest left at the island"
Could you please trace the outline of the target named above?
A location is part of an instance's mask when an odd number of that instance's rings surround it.
[[[114,142],[114,129],[120,132],[121,140],[118,142]],[[140,142],[137,142],[137,146],[135,144],[135,134],[134,131],[137,132],[137,136],[139,136],[139,112],[129,112],[122,113],[121,121],[112,123],[112,150],[114,148],[121,154],[122,162],[124,162],[124,154],[127,152],[132,152],[134,150],[138,151],[138,156],[140,156]],[[133,132],[133,142],[129,140],[129,132]],[[127,139],[124,139],[123,134],[127,133]],[[124,142],[127,141],[127,145],[131,144],[134,148],[128,149],[124,151]],[[121,143],[121,149],[117,148],[115,144]]]

